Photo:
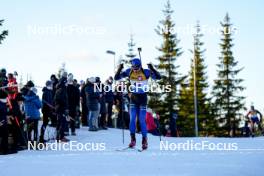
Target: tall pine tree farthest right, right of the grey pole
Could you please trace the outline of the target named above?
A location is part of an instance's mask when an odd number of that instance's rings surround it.
[[[238,61],[235,60],[232,52],[233,31],[230,17],[226,14],[222,26],[221,57],[217,64],[217,79],[214,80],[214,112],[218,120],[219,129],[222,135],[235,136],[241,110],[244,107],[245,97],[240,96],[244,87],[241,86],[243,79],[237,78],[243,68],[237,68]]]

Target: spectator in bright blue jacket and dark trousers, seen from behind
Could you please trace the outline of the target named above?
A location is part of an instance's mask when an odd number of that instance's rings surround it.
[[[24,96],[24,108],[27,122],[28,141],[31,140],[31,133],[34,132],[34,141],[38,141],[38,121],[40,120],[40,108],[42,106],[37,89],[32,87],[28,94]]]

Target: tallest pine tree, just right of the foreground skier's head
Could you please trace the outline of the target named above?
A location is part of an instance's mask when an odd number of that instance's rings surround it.
[[[179,40],[177,34],[174,33],[175,24],[172,21],[173,10],[170,2],[167,1],[163,10],[165,19],[161,20],[155,29],[158,35],[163,38],[163,43],[158,50],[162,53],[158,57],[157,69],[162,75],[162,79],[158,81],[159,85],[171,85],[170,92],[156,93],[149,101],[149,106],[159,112],[161,124],[167,119],[172,120],[173,113],[177,110],[177,86],[183,80],[177,69],[179,66],[175,62],[181,56],[181,48],[178,47]],[[157,102],[158,101],[158,102]]]

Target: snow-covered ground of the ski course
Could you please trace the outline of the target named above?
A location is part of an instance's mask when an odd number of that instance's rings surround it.
[[[103,151],[21,151],[18,154],[0,156],[1,176],[123,176],[123,175],[179,175],[179,176],[263,176],[264,138],[164,138],[163,144],[233,143],[232,151],[217,150],[160,150],[159,137],[149,135],[149,149],[117,151],[127,146],[129,132],[78,131],[72,141],[105,143]],[[141,137],[138,135],[138,148]],[[230,147],[230,146],[229,146]],[[234,146],[233,146],[234,147]],[[104,147],[103,147],[104,148]],[[183,148],[182,148],[183,149]],[[234,149],[234,148],[232,148]]]

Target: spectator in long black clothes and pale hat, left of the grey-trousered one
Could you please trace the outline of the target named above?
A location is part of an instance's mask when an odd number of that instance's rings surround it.
[[[79,111],[80,92],[79,89],[73,84],[73,75],[71,73],[68,75],[67,83],[71,134],[76,136],[75,122],[77,121],[77,114]]]

